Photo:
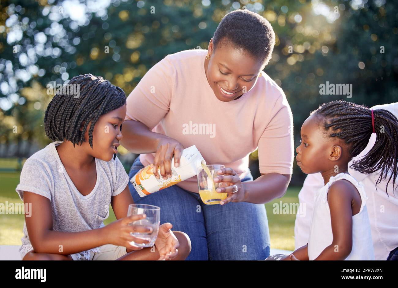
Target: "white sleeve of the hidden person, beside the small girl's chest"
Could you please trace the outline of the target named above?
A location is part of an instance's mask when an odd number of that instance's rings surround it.
[[[324,187],[324,180],[321,173],[308,174],[298,193],[300,207],[295,220],[295,250],[308,243],[314,196],[322,187]]]

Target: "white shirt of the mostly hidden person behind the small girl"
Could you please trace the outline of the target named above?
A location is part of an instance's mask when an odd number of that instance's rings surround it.
[[[371,109],[385,109],[398,117],[398,102],[373,106]],[[373,111],[375,112],[375,111]],[[348,163],[348,172],[357,181],[360,181],[369,199],[366,202],[375,260],[397,260],[398,261],[398,189],[392,190],[392,185],[386,189],[386,180],[376,184],[379,177],[376,173],[363,174],[350,168],[355,160],[360,160],[375,145],[376,133],[373,133],[369,143],[358,156]],[[297,213],[295,221],[295,249],[308,243],[310,232],[312,206],[316,192],[324,186],[321,173],[307,175],[303,187],[298,193],[301,208],[305,207],[306,214]],[[300,211],[300,209],[298,209]],[[386,213],[388,211],[388,213]],[[395,252],[395,253],[394,253]]]

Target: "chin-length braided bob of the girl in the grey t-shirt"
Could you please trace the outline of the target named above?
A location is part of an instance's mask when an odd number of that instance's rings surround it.
[[[93,130],[98,118],[123,106],[126,95],[121,88],[92,74],[73,77],[67,85],[73,84],[77,84],[79,89],[78,97],[73,93],[66,93],[65,86],[62,91],[57,90],[46,109],[44,129],[51,140],[68,140],[75,146],[85,142],[84,134],[91,121],[88,142],[93,148]]]

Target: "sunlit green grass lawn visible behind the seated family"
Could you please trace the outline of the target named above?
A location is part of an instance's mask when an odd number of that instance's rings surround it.
[[[16,161],[16,160],[15,160]],[[0,167],[4,167],[5,161],[0,159]],[[7,164],[14,165],[12,161]],[[9,165],[7,165],[10,167]],[[15,191],[19,183],[20,172],[0,172],[0,203],[23,203]],[[289,187],[285,196],[275,199],[267,204],[269,233],[271,237],[271,248],[294,250],[294,224],[295,214],[274,214],[273,204],[298,203],[298,192],[300,187]],[[233,203],[232,203],[233,205]],[[21,245],[23,214],[0,214],[0,245]],[[107,225],[116,220],[112,207],[109,205],[109,217],[104,221]]]

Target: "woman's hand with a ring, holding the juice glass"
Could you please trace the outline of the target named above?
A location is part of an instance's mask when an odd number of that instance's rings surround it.
[[[221,183],[225,182],[228,183],[230,186],[228,187],[220,187],[216,189],[217,193],[228,193],[228,197],[226,197],[224,200],[220,202],[220,205],[224,205],[229,202],[243,202],[245,200],[245,189],[244,186],[242,185],[242,182],[240,181],[240,178],[238,174],[234,171],[232,168],[222,168],[219,171],[217,171],[218,175],[223,175],[226,174],[226,176],[217,176],[217,178],[214,178],[215,183]],[[238,187],[237,192],[233,192],[236,190],[236,187],[233,185],[236,185]]]

